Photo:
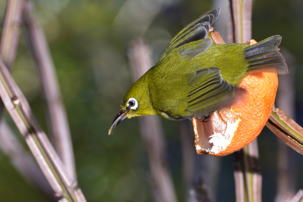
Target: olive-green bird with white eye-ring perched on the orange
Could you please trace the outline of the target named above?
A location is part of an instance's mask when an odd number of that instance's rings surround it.
[[[171,120],[201,118],[232,104],[242,78],[250,73],[288,68],[275,35],[254,45],[215,44],[209,29],[220,15],[215,8],[182,29],[157,64],[125,94],[111,134],[120,121],[144,115]]]

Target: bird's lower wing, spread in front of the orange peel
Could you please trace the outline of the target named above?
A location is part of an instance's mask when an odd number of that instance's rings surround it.
[[[222,78],[220,68],[199,70],[188,80],[190,92],[187,101],[179,106],[184,108],[184,104],[186,105],[179,116],[184,118],[208,116],[211,112],[232,103],[235,87]]]

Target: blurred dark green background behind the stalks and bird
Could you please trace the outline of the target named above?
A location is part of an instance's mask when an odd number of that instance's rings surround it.
[[[3,18],[6,1],[0,2]],[[138,119],[125,120],[108,136],[123,94],[132,85],[127,51],[142,36],[158,60],[171,38],[212,8],[211,0],[36,0],[35,17],[42,25],[54,59],[72,134],[79,186],[88,201],[153,201],[147,153]],[[252,36],[261,41],[281,35],[279,48],[295,58],[296,120],[303,125],[303,2],[255,0]],[[222,8],[224,9],[224,8]],[[215,28],[216,31],[216,28]],[[21,34],[12,75],[48,133],[35,64]],[[23,141],[12,120],[5,118]],[[177,121],[161,119],[168,162],[179,201],[182,187],[181,146]],[[23,141],[24,142],[24,141]],[[268,129],[259,136],[263,200],[276,193],[277,138]],[[194,143],[193,143],[194,144]],[[303,157],[294,152],[296,190],[303,188]],[[235,201],[233,154],[221,158],[217,201]],[[50,201],[29,186],[0,153],[0,201]]]

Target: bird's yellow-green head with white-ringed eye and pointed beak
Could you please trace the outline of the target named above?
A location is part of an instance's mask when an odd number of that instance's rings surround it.
[[[115,117],[108,134],[111,134],[123,119],[145,115],[158,115],[158,113],[151,103],[148,82],[144,78],[140,78],[123,97],[121,110]]]

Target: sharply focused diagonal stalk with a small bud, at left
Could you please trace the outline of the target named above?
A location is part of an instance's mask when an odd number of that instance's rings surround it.
[[[2,58],[0,58],[0,97],[56,195],[65,197],[68,201],[83,201],[75,195],[77,182],[68,176],[62,161],[35,119],[28,101]]]

